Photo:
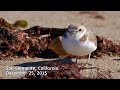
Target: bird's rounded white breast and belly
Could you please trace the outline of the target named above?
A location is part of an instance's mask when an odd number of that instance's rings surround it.
[[[80,42],[79,40],[69,40],[68,38],[64,37],[62,38],[62,46],[68,54],[75,56],[88,55],[97,48],[97,46],[95,46],[95,44],[89,40]]]

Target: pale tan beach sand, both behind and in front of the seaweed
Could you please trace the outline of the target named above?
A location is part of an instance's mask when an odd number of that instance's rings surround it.
[[[88,29],[95,32],[97,35],[104,36],[113,42],[120,43],[120,12],[119,11],[99,11],[99,14],[105,17],[105,20],[96,19],[89,14],[80,14],[79,11],[0,11],[0,17],[7,20],[9,23],[14,23],[16,20],[24,19],[28,21],[27,28],[32,26],[45,26],[66,28],[72,23],[83,23]],[[120,61],[113,60],[114,56],[104,56],[99,59],[91,59],[92,65],[101,69],[111,70],[114,79],[120,79]],[[120,58],[120,57],[117,57]],[[47,59],[51,61],[50,59]],[[74,59],[73,59],[74,60]],[[13,77],[5,75],[6,66],[15,67],[15,65],[24,63],[39,63],[45,61],[43,58],[20,58],[13,60],[0,60],[0,78],[16,79],[21,76]],[[80,59],[79,63],[86,62],[87,59]],[[88,71],[83,71],[84,76],[88,76]],[[93,70],[94,73],[94,70]]]

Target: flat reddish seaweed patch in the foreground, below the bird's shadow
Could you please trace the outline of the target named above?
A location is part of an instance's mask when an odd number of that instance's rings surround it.
[[[28,72],[25,77],[27,79],[83,79],[84,77],[80,75],[81,67],[77,64],[63,64],[63,63],[45,63],[41,67],[57,67],[58,70],[36,70]],[[47,74],[42,75],[46,71]],[[41,73],[40,73],[41,72]]]

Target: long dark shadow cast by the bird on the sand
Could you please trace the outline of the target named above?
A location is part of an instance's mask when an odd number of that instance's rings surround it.
[[[20,66],[20,67],[37,67],[40,65],[43,65],[46,62],[60,62],[60,63],[64,63],[64,64],[68,64],[68,63],[74,63],[71,59],[57,59],[57,60],[52,60],[52,61],[38,61],[38,62],[26,62],[26,63],[22,63],[22,64],[17,64],[14,66]]]

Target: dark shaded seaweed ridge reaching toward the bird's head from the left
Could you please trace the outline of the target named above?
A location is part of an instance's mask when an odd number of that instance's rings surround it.
[[[23,32],[27,33],[29,37],[40,37],[41,35],[50,35],[51,38],[56,38],[58,36],[62,36],[67,28],[48,28],[42,26],[34,26],[30,29],[23,30]]]

